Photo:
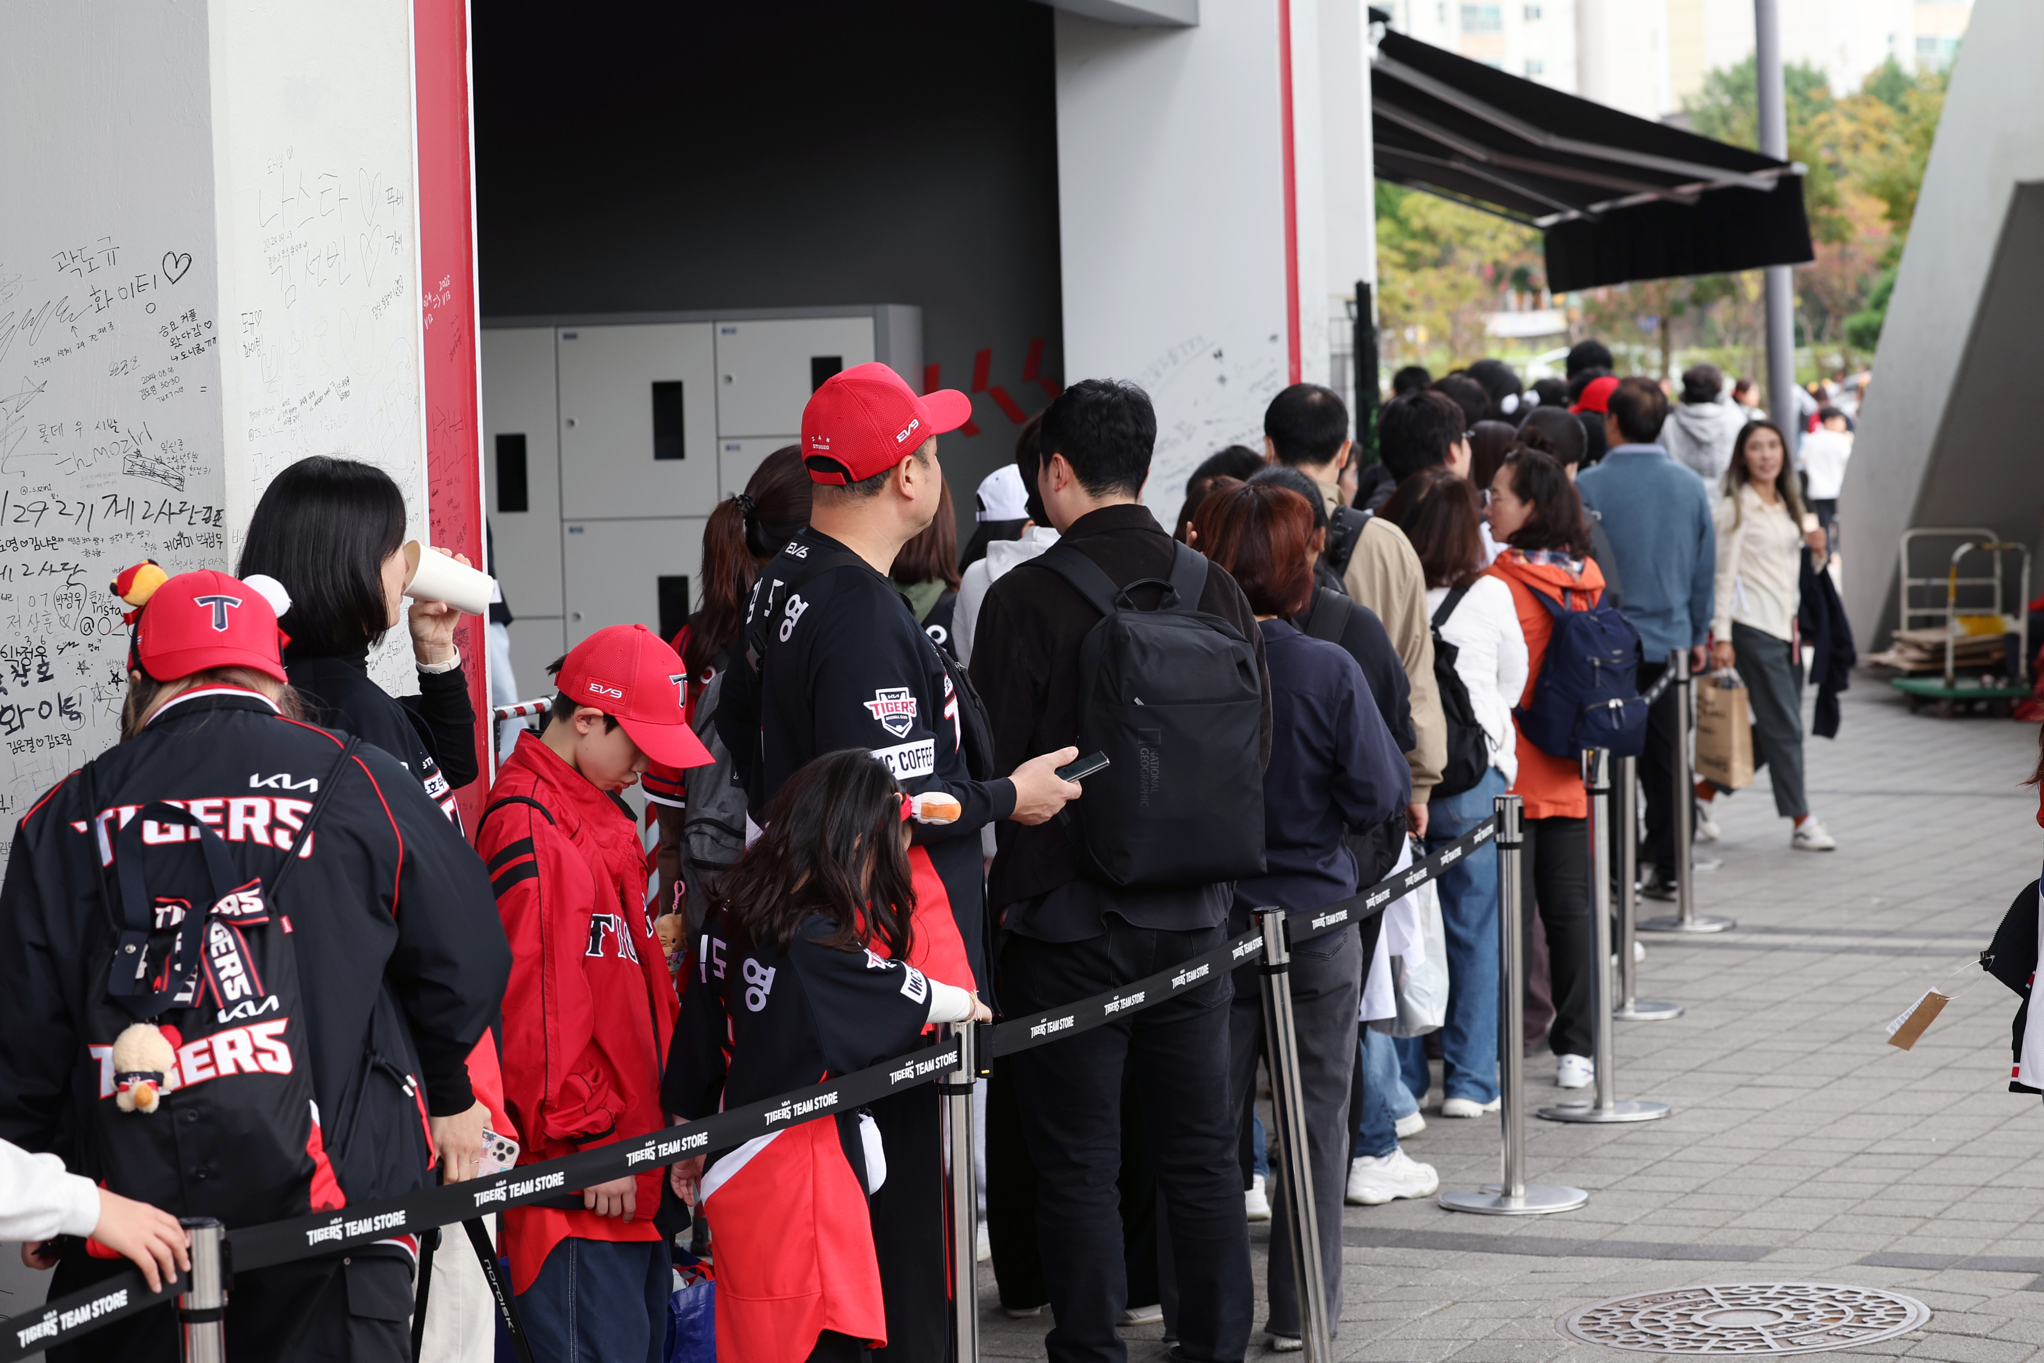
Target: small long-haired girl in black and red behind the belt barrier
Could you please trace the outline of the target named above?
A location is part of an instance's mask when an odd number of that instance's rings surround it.
[[[905,807],[867,752],[816,758],[766,807],[687,965],[662,1101],[687,1120],[838,1079],[987,1007],[908,965]],[[918,1177],[903,1169],[895,1177]],[[717,1357],[852,1363],[887,1343],[869,1197],[873,1118],[842,1112],[675,1165],[715,1226]]]

